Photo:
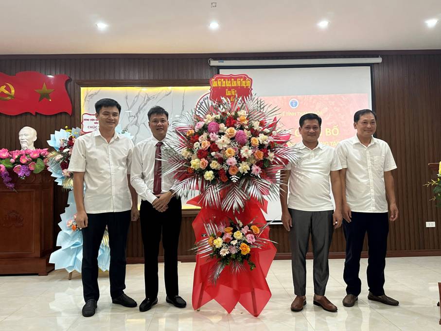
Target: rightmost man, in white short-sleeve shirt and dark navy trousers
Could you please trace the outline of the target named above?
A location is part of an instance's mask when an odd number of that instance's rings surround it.
[[[370,109],[354,114],[353,138],[337,145],[343,189],[343,230],[346,260],[343,278],[347,284],[343,305],[352,307],[361,292],[360,256],[368,234],[368,299],[397,306],[398,301],[385,295],[384,269],[389,232],[388,221],[398,218],[392,170],[397,166],[386,141],[376,139],[376,115]],[[386,200],[386,195],[389,200]],[[388,210],[390,217],[388,218]]]

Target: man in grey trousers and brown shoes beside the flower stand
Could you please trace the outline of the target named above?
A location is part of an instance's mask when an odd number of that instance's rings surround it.
[[[341,226],[341,169],[335,149],[318,142],[321,118],[316,114],[300,117],[302,141],[294,145],[300,154],[298,164],[289,163],[282,171],[280,200],[282,223],[289,231],[296,298],[291,310],[300,312],[306,304],[306,253],[309,236],[314,252],[314,304],[329,312],[337,307],[325,295],[329,278],[328,254],[333,229]],[[331,186],[335,211],[331,200]],[[289,198],[288,190],[289,188]]]

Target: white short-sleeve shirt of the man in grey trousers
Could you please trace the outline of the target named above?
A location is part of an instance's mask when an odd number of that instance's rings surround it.
[[[304,211],[334,210],[331,200],[330,172],[341,169],[335,149],[318,143],[314,149],[302,141],[293,146],[300,154],[297,165],[288,163],[288,208]]]

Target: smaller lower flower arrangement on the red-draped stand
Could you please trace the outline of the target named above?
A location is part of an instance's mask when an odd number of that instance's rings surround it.
[[[260,237],[269,223],[259,227],[253,225],[253,221],[246,226],[238,219],[235,222],[230,220],[228,225],[216,225],[212,220],[205,224],[209,238],[196,242],[194,249],[202,257],[210,256],[217,259],[218,263],[213,265],[211,272],[212,283],[216,283],[227,265],[230,265],[235,273],[244,269],[245,261],[250,270],[256,267],[256,264],[250,260],[251,249],[260,248],[269,241]]]

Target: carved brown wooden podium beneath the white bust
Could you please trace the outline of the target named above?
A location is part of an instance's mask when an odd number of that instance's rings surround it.
[[[0,179],[0,274],[47,275],[53,270],[53,178],[46,170],[24,180],[9,174],[17,192]]]

